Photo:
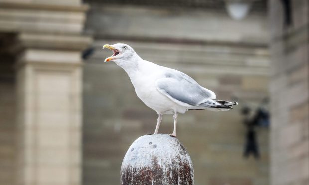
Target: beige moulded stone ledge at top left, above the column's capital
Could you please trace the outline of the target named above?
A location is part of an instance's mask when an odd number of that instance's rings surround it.
[[[87,6],[80,3],[0,1],[0,30],[79,34],[83,30],[86,10]]]

